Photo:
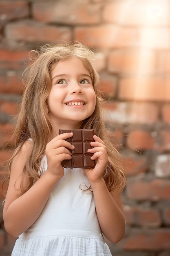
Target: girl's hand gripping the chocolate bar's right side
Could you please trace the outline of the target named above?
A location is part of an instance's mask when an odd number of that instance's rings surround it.
[[[93,153],[91,159],[96,160],[96,165],[93,169],[83,169],[90,183],[101,180],[108,163],[108,155],[104,141],[96,135],[93,136],[93,139],[95,140],[91,141],[91,146],[93,146],[93,148],[88,149],[88,152]]]

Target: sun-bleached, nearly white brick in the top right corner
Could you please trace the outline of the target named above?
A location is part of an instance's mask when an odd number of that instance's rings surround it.
[[[107,3],[104,6],[104,22],[119,23],[121,25],[170,25],[170,11],[167,1],[161,5],[150,4],[137,0],[135,4],[128,1]]]

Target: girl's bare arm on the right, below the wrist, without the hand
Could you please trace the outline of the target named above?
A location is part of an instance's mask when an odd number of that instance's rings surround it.
[[[103,179],[91,182],[95,198],[97,218],[104,236],[113,243],[119,242],[125,233],[125,217],[120,195],[111,195]]]

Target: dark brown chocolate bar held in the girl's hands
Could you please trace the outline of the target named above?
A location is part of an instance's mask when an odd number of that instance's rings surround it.
[[[95,160],[91,160],[91,156],[93,154],[88,153],[87,150],[89,148],[93,148],[90,142],[95,141],[93,139],[93,135],[95,135],[95,130],[59,130],[59,134],[65,132],[73,132],[73,137],[66,139],[66,141],[69,141],[72,145],[74,145],[75,149],[69,149],[69,151],[72,153],[72,158],[62,161],[62,166],[66,168],[94,168],[96,162]]]

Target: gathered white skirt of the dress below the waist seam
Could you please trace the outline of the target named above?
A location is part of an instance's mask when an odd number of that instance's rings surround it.
[[[29,240],[29,241],[28,241]],[[96,238],[40,236],[18,238],[11,256],[112,256],[108,245]]]

